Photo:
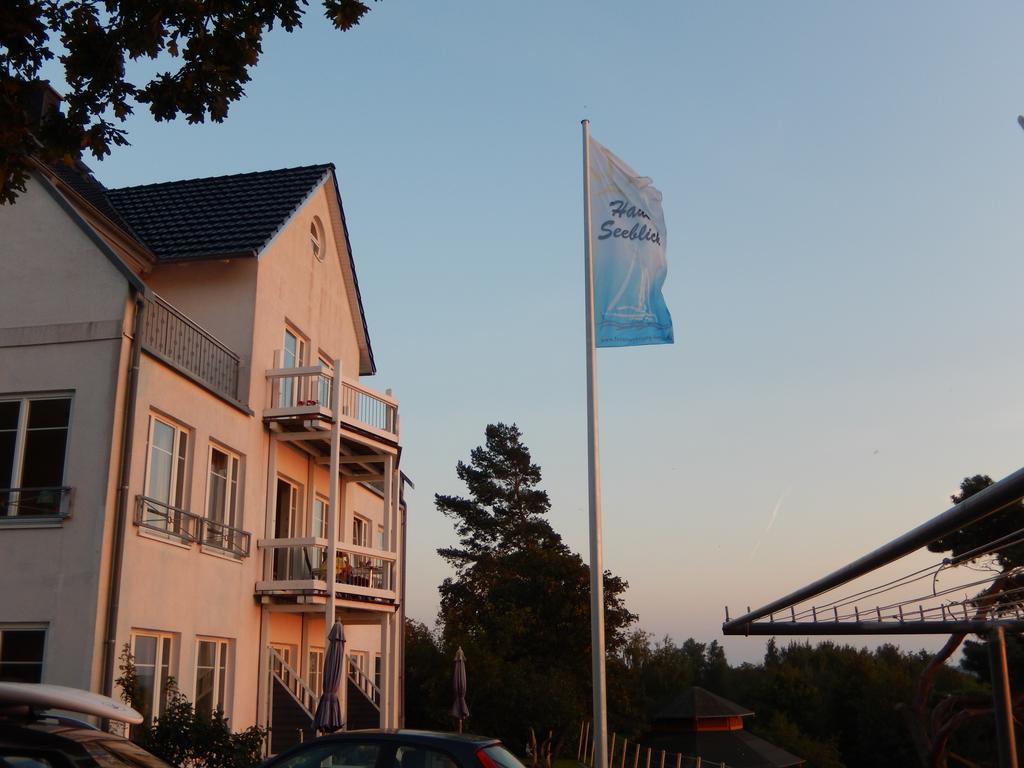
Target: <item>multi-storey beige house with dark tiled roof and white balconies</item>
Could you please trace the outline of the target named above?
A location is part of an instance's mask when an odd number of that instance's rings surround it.
[[[402,712],[398,404],[331,165],[0,206],[0,679],[174,678],[298,738],[331,618],[352,727]]]

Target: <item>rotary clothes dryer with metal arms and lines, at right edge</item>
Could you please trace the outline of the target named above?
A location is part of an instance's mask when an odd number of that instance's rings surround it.
[[[1014,720],[1007,673],[1005,635],[1024,632],[1024,587],[979,598],[996,580],[1007,583],[1024,567],[1011,571],[979,569],[979,562],[1024,542],[1024,515],[1019,529],[956,557],[936,561],[895,579],[863,586],[880,568],[918,552],[1024,499],[1024,468],[989,485],[903,536],[831,573],[722,625],[725,635],[955,635],[988,639],[992,697],[999,741],[999,767],[1017,768]],[[1021,507],[1024,509],[1024,507]],[[854,582],[857,582],[855,585]],[[844,588],[847,591],[844,591]]]

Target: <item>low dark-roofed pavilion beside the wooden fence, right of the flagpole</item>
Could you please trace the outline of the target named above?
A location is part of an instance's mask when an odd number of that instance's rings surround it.
[[[743,728],[754,713],[693,686],[663,707],[651,720],[645,746],[700,758],[729,768],[797,768],[804,760]]]

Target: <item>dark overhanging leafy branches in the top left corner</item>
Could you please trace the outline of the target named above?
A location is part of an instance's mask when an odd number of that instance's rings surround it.
[[[302,26],[306,0],[4,0],[0,3],[0,203],[13,203],[31,159],[72,163],[126,144],[118,123],[147,104],[157,120],[220,122],[240,99],[265,32]],[[364,0],[324,0],[325,15],[348,30]],[[70,91],[66,113],[44,110],[43,68],[56,58]],[[147,82],[127,66],[159,61]],[[167,67],[166,70],[163,68]],[[144,77],[143,77],[144,80]]]

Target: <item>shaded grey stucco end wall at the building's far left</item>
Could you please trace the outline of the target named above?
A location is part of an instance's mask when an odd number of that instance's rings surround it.
[[[44,682],[88,688],[106,583],[129,288],[35,180],[16,205],[0,206],[0,396],[72,394],[65,483],[74,489],[60,527],[0,521],[0,624],[47,625]]]

